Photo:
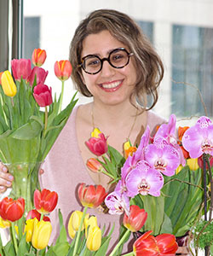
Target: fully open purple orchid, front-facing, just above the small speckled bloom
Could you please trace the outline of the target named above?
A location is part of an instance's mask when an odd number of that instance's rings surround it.
[[[125,183],[127,195],[130,197],[138,194],[159,196],[164,185],[164,177],[145,160],[141,160],[127,175]]]

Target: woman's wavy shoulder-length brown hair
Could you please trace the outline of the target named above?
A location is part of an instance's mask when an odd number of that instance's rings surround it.
[[[78,67],[81,63],[83,50],[83,40],[89,34],[99,33],[107,30],[119,42],[125,44],[130,52],[134,53],[137,79],[135,90],[130,96],[133,103],[133,96],[136,101],[145,107],[147,106],[147,96],[153,97],[150,108],[154,107],[158,101],[158,85],[164,76],[164,66],[152,44],[141,31],[141,28],[130,16],[113,9],[98,9],[93,11],[82,20],[74,33],[70,45],[70,61],[72,64],[72,81],[76,89],[83,96],[92,96],[81,77],[82,68]]]

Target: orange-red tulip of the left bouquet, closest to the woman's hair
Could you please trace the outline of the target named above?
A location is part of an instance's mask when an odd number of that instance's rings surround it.
[[[72,73],[72,66],[70,61],[56,61],[54,66],[55,76],[60,81],[69,79]]]

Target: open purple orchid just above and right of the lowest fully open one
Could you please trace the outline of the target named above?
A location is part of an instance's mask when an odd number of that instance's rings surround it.
[[[172,176],[180,165],[180,156],[164,137],[155,137],[154,143],[147,146],[144,152],[145,160],[166,176]]]

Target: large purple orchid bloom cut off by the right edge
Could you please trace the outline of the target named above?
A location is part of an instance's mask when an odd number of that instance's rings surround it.
[[[213,155],[212,121],[208,117],[200,117],[197,123],[184,133],[182,145],[191,158],[198,158],[204,153]]]

